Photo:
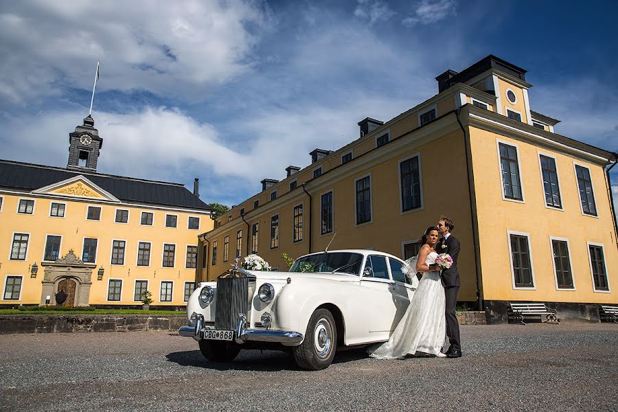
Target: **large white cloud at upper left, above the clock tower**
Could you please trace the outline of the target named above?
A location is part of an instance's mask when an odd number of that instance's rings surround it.
[[[271,13],[258,2],[10,1],[0,5],[0,100],[61,87],[203,96],[250,70]],[[58,84],[60,81],[60,84]]]

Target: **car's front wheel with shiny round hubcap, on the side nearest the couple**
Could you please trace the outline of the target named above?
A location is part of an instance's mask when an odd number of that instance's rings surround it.
[[[303,343],[294,347],[294,358],[303,369],[328,367],[337,349],[337,328],[332,313],[318,309],[311,315]]]

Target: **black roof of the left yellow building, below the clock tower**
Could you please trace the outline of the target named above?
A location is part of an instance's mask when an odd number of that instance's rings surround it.
[[[120,201],[211,210],[206,203],[180,183],[148,181],[0,159],[0,187],[5,189],[31,191],[80,174]]]

